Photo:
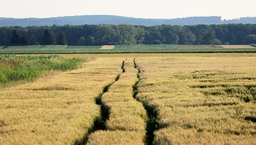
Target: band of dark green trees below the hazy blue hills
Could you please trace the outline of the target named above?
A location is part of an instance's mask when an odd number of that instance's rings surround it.
[[[0,45],[246,45],[256,43],[255,24],[63,25],[0,27]]]

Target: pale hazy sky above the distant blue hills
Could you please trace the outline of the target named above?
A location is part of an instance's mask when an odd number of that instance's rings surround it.
[[[221,16],[256,17],[255,0],[0,0],[0,17],[58,17],[67,15],[121,15],[172,19]]]

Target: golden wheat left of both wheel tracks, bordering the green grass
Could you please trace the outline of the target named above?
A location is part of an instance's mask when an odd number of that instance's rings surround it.
[[[0,91],[0,144],[74,144],[100,117],[97,97],[121,73],[121,59]]]

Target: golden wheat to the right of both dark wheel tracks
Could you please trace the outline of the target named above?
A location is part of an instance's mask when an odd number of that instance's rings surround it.
[[[154,144],[255,144],[255,56],[205,56],[136,59]]]

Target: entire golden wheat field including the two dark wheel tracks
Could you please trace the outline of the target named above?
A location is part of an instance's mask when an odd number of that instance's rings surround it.
[[[0,144],[256,143],[255,53],[60,56],[90,61],[0,90]]]

